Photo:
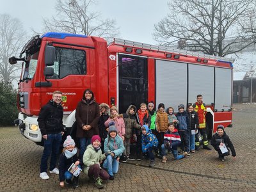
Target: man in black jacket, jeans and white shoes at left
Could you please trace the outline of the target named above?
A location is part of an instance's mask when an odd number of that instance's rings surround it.
[[[50,173],[59,174],[59,170],[56,168],[56,161],[60,151],[62,135],[64,134],[61,96],[62,93],[60,91],[53,92],[52,99],[42,107],[37,119],[42,138],[44,139],[44,152],[40,165],[40,177],[42,179],[49,179],[47,175],[49,156],[51,156]]]

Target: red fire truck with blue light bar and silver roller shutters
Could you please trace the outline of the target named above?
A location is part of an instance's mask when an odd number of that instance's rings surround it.
[[[232,62],[234,60],[116,39],[67,33],[36,35],[24,45],[17,106],[20,132],[40,143],[40,108],[63,92],[63,124],[76,125],[76,105],[86,88],[97,102],[116,105],[124,113],[130,104],[153,100],[166,107],[193,104],[202,94],[207,105],[209,134],[219,124],[232,125]]]

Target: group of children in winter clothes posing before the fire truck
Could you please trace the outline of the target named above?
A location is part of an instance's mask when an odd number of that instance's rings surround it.
[[[155,166],[155,154],[161,157],[162,162],[167,161],[167,152],[172,152],[174,159],[179,160],[199,148],[195,147],[195,135],[198,134],[198,115],[193,106],[184,110],[184,105],[178,106],[179,112],[174,115],[173,108],[164,111],[164,104],[154,110],[154,103],[131,105],[126,113],[118,114],[115,106],[110,108],[108,104],[100,104],[100,135],[94,135],[91,144],[83,154],[83,161],[78,159],[78,150],[70,136],[63,144],[63,153],[60,156],[60,186],[72,184],[78,187],[78,177],[71,181],[72,174],[68,168],[72,163],[83,166],[84,173],[95,181],[97,188],[103,188],[102,180],[113,180],[118,172],[120,158],[122,162],[127,160],[141,160],[142,157],[150,159],[149,166]],[[130,144],[136,142],[135,156],[131,155]],[[236,151],[232,142],[224,131],[223,125],[218,126],[216,134],[212,137],[211,145],[218,151],[219,158],[224,161],[224,156],[236,157]],[[223,153],[221,147],[227,147]],[[178,152],[180,147],[180,152]],[[102,150],[104,153],[102,154]],[[104,161],[105,159],[105,161]],[[104,161],[104,162],[103,162]]]

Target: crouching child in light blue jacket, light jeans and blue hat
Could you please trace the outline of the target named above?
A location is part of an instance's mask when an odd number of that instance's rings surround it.
[[[103,168],[108,169],[109,179],[114,180],[114,174],[118,172],[119,159],[124,152],[124,142],[118,135],[115,124],[109,123],[108,138],[104,141],[104,152],[108,153],[103,163]]]

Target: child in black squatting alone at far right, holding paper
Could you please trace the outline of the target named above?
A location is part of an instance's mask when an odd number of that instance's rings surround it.
[[[223,146],[224,144],[226,145],[228,152],[225,152],[224,154],[222,154],[222,152],[220,150],[220,145]],[[224,156],[229,156],[229,148],[231,150],[233,159],[234,160],[236,159],[236,150],[234,148],[233,143],[230,141],[228,135],[224,131],[223,125],[218,125],[217,132],[212,136],[211,145],[218,152],[219,159],[221,161],[224,161]]]

